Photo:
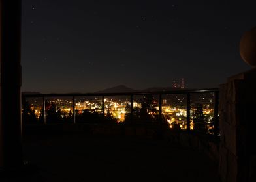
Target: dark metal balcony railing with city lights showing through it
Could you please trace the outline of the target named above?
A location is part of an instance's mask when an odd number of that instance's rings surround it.
[[[217,88],[163,92],[22,94],[23,114],[25,103],[29,103],[30,109],[37,114],[38,119],[40,117],[43,124],[51,123],[48,121],[48,112],[50,105],[55,104],[55,111],[59,114],[65,112],[62,118],[69,116],[69,122],[74,124],[82,122],[82,113],[93,110],[101,116],[101,120],[111,116],[116,119],[116,123],[125,121],[136,125],[142,121],[142,112],[146,112],[144,116],[149,117],[144,118],[144,125],[168,123],[170,128],[178,125],[187,131],[219,135]]]

